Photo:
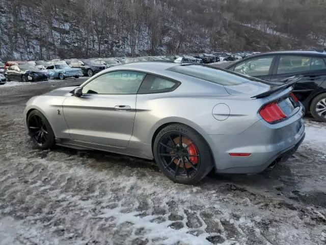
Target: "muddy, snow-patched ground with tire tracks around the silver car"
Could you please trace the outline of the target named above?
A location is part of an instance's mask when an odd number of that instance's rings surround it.
[[[80,81],[0,87],[0,244],[325,244],[326,130],[257,175],[175,184],[152,161],[35,148],[30,97]]]

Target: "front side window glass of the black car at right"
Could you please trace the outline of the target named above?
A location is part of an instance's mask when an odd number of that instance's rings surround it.
[[[234,71],[251,77],[267,76],[274,56],[250,59],[234,67]]]

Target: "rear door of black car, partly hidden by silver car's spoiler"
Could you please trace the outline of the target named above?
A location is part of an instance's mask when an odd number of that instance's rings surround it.
[[[285,80],[288,77],[303,75],[293,92],[304,102],[326,79],[326,65],[322,57],[303,55],[279,55],[271,81]]]

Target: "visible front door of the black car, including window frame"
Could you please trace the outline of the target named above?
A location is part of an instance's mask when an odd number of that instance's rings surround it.
[[[236,63],[229,69],[243,75],[263,79],[269,81],[275,64],[275,55],[265,55],[246,59],[240,63]]]

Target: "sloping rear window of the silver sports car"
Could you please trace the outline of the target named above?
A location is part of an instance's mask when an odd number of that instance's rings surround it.
[[[240,85],[248,82],[248,80],[266,83],[263,80],[243,76],[237,74],[236,72],[219,68],[211,68],[203,65],[179,65],[173,66],[168,70],[223,86]]]

